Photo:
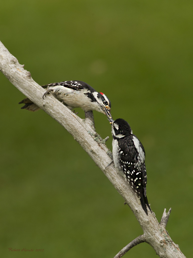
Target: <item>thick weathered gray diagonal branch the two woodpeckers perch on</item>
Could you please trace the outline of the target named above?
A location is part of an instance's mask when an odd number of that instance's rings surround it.
[[[53,96],[47,96],[43,100],[43,88],[34,82],[30,72],[23,69],[23,65],[19,64],[1,42],[0,70],[25,96],[66,128],[89,154],[133,211],[143,229],[145,242],[150,244],[162,258],[184,258],[185,256],[181,253],[179,246],[173,243],[164,225],[157,221],[153,213],[148,212],[148,216],[145,214],[135,193],[125,179],[117,173],[113,163],[105,169],[111,162],[110,156],[112,154],[106,147],[105,140],[102,140],[93,129],[92,123],[88,123],[87,119],[82,120]]]

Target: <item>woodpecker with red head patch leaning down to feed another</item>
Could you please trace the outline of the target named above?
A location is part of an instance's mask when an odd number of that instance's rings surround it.
[[[43,99],[50,93],[63,102],[69,109],[82,108],[85,112],[96,110],[103,114],[110,114],[111,102],[102,92],[95,91],[90,85],[81,81],[65,81],[59,83],[50,83],[42,85],[46,88]],[[25,104],[21,109],[37,111],[40,108],[30,99],[25,98],[19,102]]]

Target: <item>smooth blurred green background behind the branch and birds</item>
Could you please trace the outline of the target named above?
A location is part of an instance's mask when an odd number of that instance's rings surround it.
[[[192,8],[185,1],[1,3],[2,43],[39,83],[82,80],[111,100],[146,151],[147,196],[160,221],[192,255]],[[73,137],[1,83],[1,257],[114,257],[142,229]],[[80,117],[84,112],[76,109]],[[107,118],[97,132],[112,149]],[[8,248],[34,249],[8,252]],[[44,249],[35,252],[35,249]],[[146,243],[124,257],[156,257]]]

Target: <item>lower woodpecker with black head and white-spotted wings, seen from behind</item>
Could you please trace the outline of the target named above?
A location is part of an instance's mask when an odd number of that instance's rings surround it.
[[[115,168],[121,175],[125,175],[148,215],[146,205],[150,211],[151,208],[146,196],[147,173],[144,147],[124,119],[118,118],[114,121],[110,118],[109,121],[112,125],[112,153]]]

